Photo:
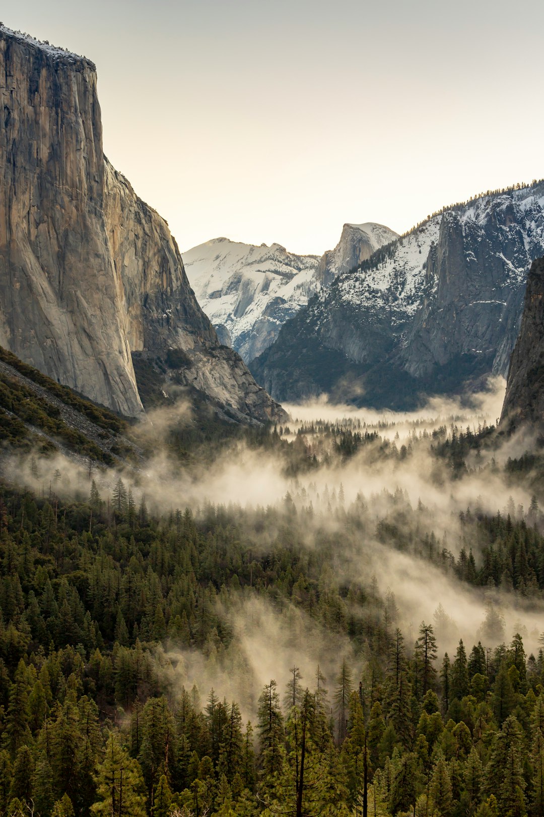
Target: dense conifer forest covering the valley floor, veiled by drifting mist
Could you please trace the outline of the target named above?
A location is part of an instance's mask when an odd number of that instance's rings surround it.
[[[70,498],[47,460],[48,489],[2,483],[2,814],[544,814],[538,462],[502,470],[491,426],[391,431],[273,431],[293,489],[268,507],[167,511],[98,472]],[[318,484],[423,450],[442,491],[500,471],[533,500],[444,528],[403,489]],[[387,554],[446,606],[409,612]]]

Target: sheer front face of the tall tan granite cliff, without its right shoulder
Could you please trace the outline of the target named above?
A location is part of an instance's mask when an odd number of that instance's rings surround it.
[[[95,66],[0,29],[0,344],[141,412],[104,217]]]

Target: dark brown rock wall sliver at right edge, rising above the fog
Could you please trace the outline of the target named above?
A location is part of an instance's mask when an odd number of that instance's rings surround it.
[[[522,423],[544,428],[544,258],[533,261],[520,335],[512,352],[501,427]]]

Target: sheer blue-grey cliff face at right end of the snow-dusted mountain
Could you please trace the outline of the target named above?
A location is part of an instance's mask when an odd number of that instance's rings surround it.
[[[462,355],[474,355],[476,373],[506,375],[525,276],[544,249],[542,192],[535,202],[499,196],[482,212],[444,213],[427,259],[430,291],[400,353],[414,377]]]

